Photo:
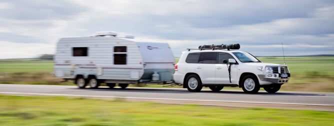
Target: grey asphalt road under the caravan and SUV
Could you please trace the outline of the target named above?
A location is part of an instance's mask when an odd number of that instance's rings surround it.
[[[202,89],[189,92],[185,88],[127,87],[98,89],[80,89],[68,85],[27,85],[0,84],[2,94],[20,95],[63,95],[100,98],[124,98],[130,101],[154,101],[173,104],[203,104],[237,107],[273,107],[291,109],[314,109],[334,111],[334,93],[278,91],[267,93],[260,91],[247,94],[242,90],[223,89],[212,92]]]

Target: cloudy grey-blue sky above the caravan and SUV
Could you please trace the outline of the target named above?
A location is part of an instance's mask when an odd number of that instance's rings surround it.
[[[60,37],[117,31],[174,56],[240,43],[253,55],[334,54],[333,0],[0,0],[0,58],[53,54]]]

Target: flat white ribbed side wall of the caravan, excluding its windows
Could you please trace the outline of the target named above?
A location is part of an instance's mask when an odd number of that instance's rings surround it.
[[[126,46],[126,52],[114,52],[114,46]],[[86,56],[73,56],[74,47],[87,47]],[[126,64],[114,64],[114,54],[126,55]],[[61,38],[55,54],[55,75],[75,78],[82,74],[97,79],[138,80],[143,74],[140,51],[134,41],[116,37]]]

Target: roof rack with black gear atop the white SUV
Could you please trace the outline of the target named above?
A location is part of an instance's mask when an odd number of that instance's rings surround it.
[[[190,51],[191,49],[198,49],[198,50],[207,50],[207,49],[239,49],[240,48],[240,44],[236,43],[236,44],[218,44],[218,45],[199,45],[198,48],[187,48],[188,51]]]

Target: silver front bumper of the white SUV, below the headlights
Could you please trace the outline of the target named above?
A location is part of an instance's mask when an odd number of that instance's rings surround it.
[[[281,73],[258,74],[258,78],[262,81],[271,83],[287,83],[290,79],[290,73],[286,73],[287,77],[281,77]]]

